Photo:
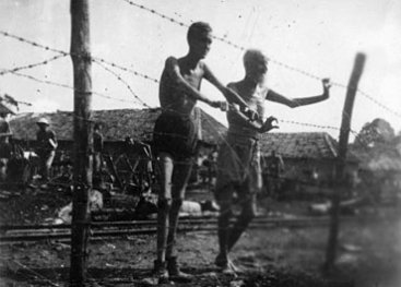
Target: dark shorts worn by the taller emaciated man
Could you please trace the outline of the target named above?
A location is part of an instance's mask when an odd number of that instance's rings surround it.
[[[192,157],[198,143],[194,119],[177,112],[163,112],[154,125],[153,142],[157,153],[168,153],[175,159]]]

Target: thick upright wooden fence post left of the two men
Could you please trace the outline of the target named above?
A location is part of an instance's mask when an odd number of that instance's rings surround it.
[[[89,0],[71,0],[71,58],[74,81],[73,201],[70,286],[85,286],[92,188],[91,50]]]

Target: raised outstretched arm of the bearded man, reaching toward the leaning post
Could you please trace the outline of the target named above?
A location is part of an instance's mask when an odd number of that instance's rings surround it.
[[[306,105],[311,105],[311,104],[316,104],[319,101],[322,101],[325,99],[328,99],[330,96],[330,80],[329,79],[323,79],[321,81],[322,86],[323,86],[323,94],[319,95],[319,96],[312,96],[312,97],[303,97],[303,98],[288,98],[285,97],[272,89],[270,89],[266,96],[266,99],[271,100],[271,101],[275,101],[275,103],[280,103],[283,105],[286,105],[291,108],[296,108],[296,107],[300,107],[300,106],[306,106]]]

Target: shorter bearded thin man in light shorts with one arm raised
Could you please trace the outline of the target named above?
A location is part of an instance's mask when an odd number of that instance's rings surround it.
[[[268,118],[264,122],[264,99],[284,104],[295,108],[298,106],[319,103],[329,98],[329,80],[322,81],[323,94],[306,98],[287,98],[267,88],[264,75],[268,71],[268,59],[259,50],[250,49],[244,56],[245,79],[229,83],[228,87],[238,93],[250,109],[259,113],[259,119],[249,121],[237,109],[227,112],[228,133],[221,145],[217,158],[216,200],[220,204],[219,244],[220,253],[215,264],[223,273],[235,274],[235,266],[229,261],[228,252],[245,231],[256,214],[256,194],[261,189],[261,168],[259,134],[278,128],[275,119]],[[236,191],[241,213],[236,223],[229,228],[233,215],[233,195]]]

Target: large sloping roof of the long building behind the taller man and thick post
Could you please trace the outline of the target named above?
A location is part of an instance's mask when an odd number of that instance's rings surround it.
[[[161,109],[114,109],[94,110],[93,122],[103,123],[103,135],[106,151],[118,152],[122,147],[126,136],[133,140],[152,143],[152,132]],[[200,139],[207,145],[216,145],[226,128],[200,108],[196,109]],[[59,142],[59,151],[71,151],[73,144],[73,113],[72,111],[57,111],[45,113],[19,113],[11,121],[13,139],[25,147],[32,147],[36,141],[36,121],[39,118],[50,121],[50,129],[55,131]]]

